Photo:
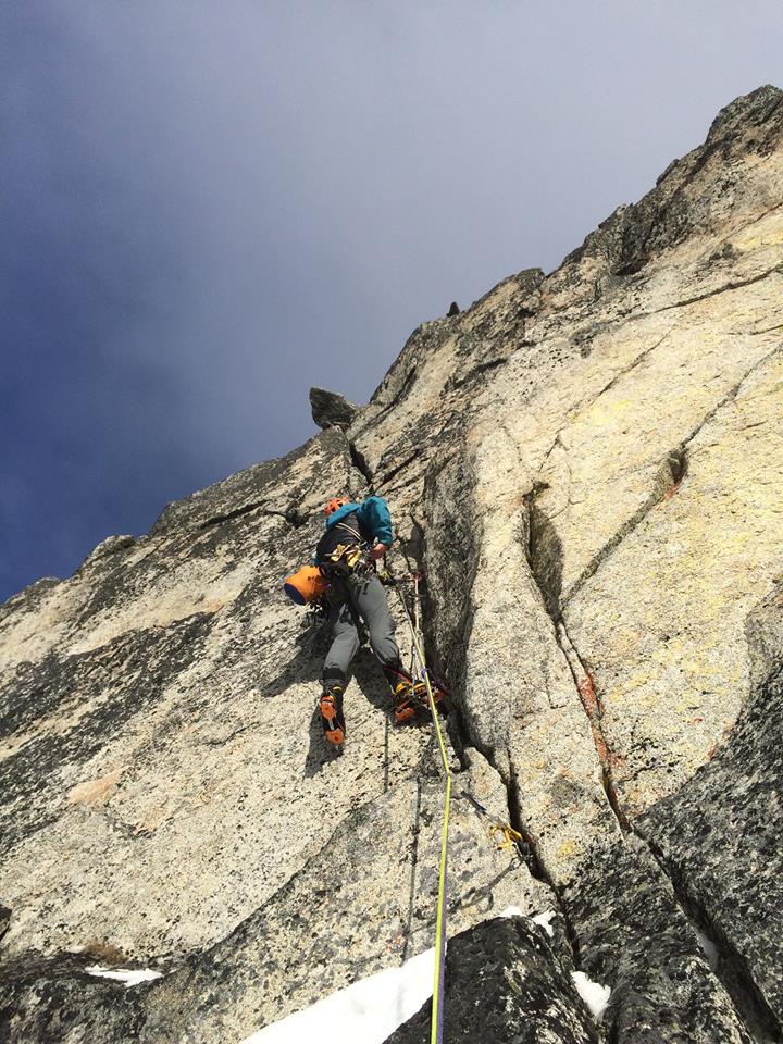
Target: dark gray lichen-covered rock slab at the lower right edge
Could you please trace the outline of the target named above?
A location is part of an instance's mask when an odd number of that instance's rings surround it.
[[[760,657],[774,650],[774,673],[712,760],[639,822],[639,833],[718,943],[732,993],[747,998],[771,1036],[783,1023],[781,606],[778,588],[748,621],[750,642],[765,648]]]

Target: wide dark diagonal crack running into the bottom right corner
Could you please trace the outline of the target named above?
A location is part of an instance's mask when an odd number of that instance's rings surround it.
[[[710,920],[701,905],[692,895],[684,878],[676,871],[663,855],[662,849],[650,837],[638,831],[633,831],[649,850],[662,873],[671,882],[674,896],[683,913],[694,927],[694,930],[707,935],[718,950],[718,964],[712,973],[726,991],[737,1015],[745,1023],[748,1032],[757,1044],[778,1044],[783,1040],[783,1026],[778,1021],[756,985],[750,969],[743,955],[737,950],[729,936],[721,931],[719,924]]]

